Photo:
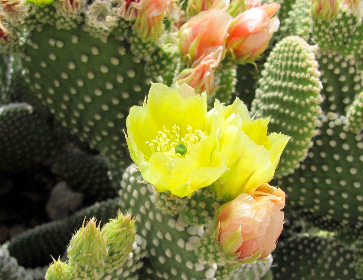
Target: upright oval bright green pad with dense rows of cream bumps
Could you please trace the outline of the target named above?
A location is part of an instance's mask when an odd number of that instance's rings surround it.
[[[270,131],[291,135],[275,173],[281,177],[292,173],[313,145],[321,113],[320,73],[311,47],[302,38],[289,36],[276,44],[261,74],[252,114],[271,116]]]

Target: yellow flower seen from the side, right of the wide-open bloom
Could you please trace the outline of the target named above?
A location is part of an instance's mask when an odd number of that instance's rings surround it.
[[[238,98],[227,107],[216,100],[209,113],[212,111],[224,114],[214,154],[224,157],[229,170],[211,189],[217,197],[230,201],[241,193],[253,192],[256,186],[273,178],[290,137],[282,133],[267,136],[269,118],[250,119],[246,106]]]

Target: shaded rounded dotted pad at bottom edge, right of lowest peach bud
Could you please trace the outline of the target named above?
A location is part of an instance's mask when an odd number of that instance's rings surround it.
[[[278,242],[274,251],[274,280],[355,280],[352,248],[334,236],[299,234]]]

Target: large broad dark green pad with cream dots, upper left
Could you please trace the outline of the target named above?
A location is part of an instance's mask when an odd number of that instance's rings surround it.
[[[113,160],[125,151],[128,110],[148,88],[127,48],[113,36],[105,44],[81,28],[45,25],[33,31],[23,61],[25,81],[62,125]]]

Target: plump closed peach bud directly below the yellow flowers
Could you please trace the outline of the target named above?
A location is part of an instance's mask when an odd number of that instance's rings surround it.
[[[285,193],[269,184],[222,205],[217,211],[215,237],[224,253],[242,262],[266,258],[281,234],[284,205]]]

